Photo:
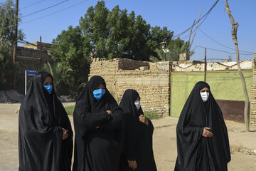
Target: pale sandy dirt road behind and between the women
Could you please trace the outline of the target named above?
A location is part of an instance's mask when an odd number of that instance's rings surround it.
[[[0,170],[18,170],[18,113],[20,104],[0,104]],[[65,103],[64,105],[74,105]],[[70,117],[71,123],[73,118]],[[154,156],[159,171],[174,170],[176,162],[176,123],[178,118],[161,118],[152,120],[154,124]],[[228,127],[232,160],[228,164],[231,171],[256,170],[256,155],[236,152],[236,149],[256,150],[256,128],[245,133],[245,126],[226,121]]]

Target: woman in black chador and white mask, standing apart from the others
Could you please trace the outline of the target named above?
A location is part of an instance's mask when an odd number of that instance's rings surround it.
[[[208,83],[196,83],[178,120],[175,171],[225,171],[228,131]]]

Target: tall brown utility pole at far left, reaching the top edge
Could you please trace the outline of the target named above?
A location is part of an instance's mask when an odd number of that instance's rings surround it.
[[[18,0],[16,0],[15,4],[15,29],[14,29],[14,56],[13,56],[13,63],[16,63],[17,57],[17,39],[18,39]],[[16,89],[16,71],[14,71],[14,89]]]

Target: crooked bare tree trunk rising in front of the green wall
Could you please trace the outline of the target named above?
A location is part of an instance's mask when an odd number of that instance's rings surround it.
[[[238,72],[242,81],[242,89],[245,94],[245,110],[244,110],[244,116],[245,116],[245,130],[248,132],[250,131],[250,108],[249,108],[249,95],[247,93],[246,83],[245,83],[245,77],[242,74],[241,68],[240,68],[240,58],[239,58],[239,50],[238,50],[238,38],[237,38],[237,31],[238,31],[238,23],[235,23],[235,20],[231,14],[230,8],[228,6],[228,0],[225,0],[225,9],[228,13],[228,16],[230,18],[230,22],[232,24],[232,39],[235,43],[235,51],[236,51],[236,58],[237,58],[237,65],[238,65]]]

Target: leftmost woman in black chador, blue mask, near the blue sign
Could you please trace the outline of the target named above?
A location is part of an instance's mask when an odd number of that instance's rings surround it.
[[[53,77],[34,76],[18,115],[19,171],[70,171],[70,120],[53,88]]]

